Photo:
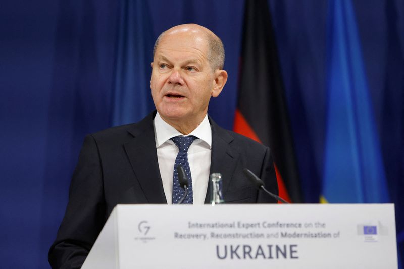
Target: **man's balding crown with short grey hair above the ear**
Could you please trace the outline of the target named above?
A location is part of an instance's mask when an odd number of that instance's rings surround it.
[[[189,32],[194,37],[203,38],[208,45],[208,55],[212,71],[221,70],[224,66],[224,47],[222,40],[211,30],[197,24],[181,24],[174,26],[159,35],[153,48],[153,57],[155,56],[160,41],[166,35],[175,35],[178,33]]]

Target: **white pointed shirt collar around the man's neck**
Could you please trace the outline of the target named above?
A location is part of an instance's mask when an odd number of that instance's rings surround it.
[[[184,136],[178,132],[174,127],[166,123],[160,116],[159,112],[156,113],[156,117],[153,120],[153,125],[155,128],[155,139],[156,148],[162,146],[165,142],[170,140],[170,138],[175,136]],[[202,122],[188,135],[193,135],[204,141],[209,148],[212,148],[212,129],[211,124],[208,120],[208,114]]]

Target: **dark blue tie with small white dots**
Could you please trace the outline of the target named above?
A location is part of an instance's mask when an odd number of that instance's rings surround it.
[[[178,181],[177,166],[182,166],[184,168],[185,174],[188,178],[188,194],[186,195],[183,203],[193,203],[192,177],[188,163],[188,148],[195,139],[195,136],[176,136],[171,138],[171,140],[173,140],[174,144],[179,149],[177,158],[175,159],[174,163],[173,204],[178,203],[178,201],[185,194],[185,190],[181,188]]]

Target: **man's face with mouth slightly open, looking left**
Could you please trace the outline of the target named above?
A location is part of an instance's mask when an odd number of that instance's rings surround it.
[[[162,37],[151,66],[151,94],[166,122],[199,124],[214,89],[215,73],[207,59],[208,45],[200,33],[177,31]]]

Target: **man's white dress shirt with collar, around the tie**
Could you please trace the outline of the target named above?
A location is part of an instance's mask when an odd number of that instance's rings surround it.
[[[167,203],[172,203],[174,163],[178,147],[170,139],[175,136],[185,136],[166,123],[159,113],[153,121],[159,162],[160,175],[163,181],[164,194]],[[187,136],[196,136],[188,149],[188,162],[191,169],[193,204],[204,204],[208,189],[209,171],[211,168],[212,130],[205,115],[204,120]]]

